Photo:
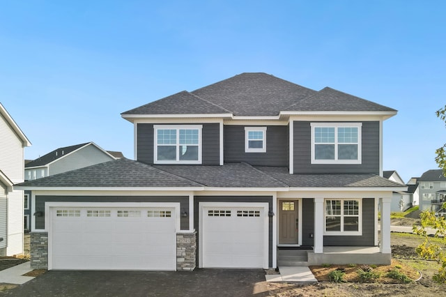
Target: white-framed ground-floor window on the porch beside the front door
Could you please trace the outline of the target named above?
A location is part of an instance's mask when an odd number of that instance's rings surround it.
[[[325,235],[362,235],[360,199],[325,199]]]

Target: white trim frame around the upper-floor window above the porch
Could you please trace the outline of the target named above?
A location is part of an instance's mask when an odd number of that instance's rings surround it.
[[[362,123],[310,123],[310,126],[312,128],[311,132],[311,142],[312,142],[312,164],[362,164]],[[334,142],[330,143],[334,145],[334,160],[316,160],[316,152],[315,152],[315,146],[317,145],[314,142],[315,137],[315,129],[316,128],[334,128]],[[357,128],[357,159],[356,160],[339,160],[338,159],[338,129],[339,128]],[[322,143],[323,144],[323,143]]]

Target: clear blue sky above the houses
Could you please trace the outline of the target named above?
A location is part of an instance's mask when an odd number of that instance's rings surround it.
[[[384,169],[436,169],[446,142],[445,1],[0,0],[0,102],[34,159],[93,141],[133,158],[121,112],[244,72],[399,113]]]

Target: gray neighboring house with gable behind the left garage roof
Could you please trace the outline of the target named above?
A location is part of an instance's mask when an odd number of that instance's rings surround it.
[[[37,178],[60,174],[110,160],[123,158],[123,154],[117,151],[105,151],[94,142],[76,144],[56,148],[54,151],[42,157],[25,163],[25,180],[33,181]],[[31,218],[31,191],[24,194],[24,229],[29,231]]]

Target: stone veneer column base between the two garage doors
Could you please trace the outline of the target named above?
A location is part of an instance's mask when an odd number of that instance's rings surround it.
[[[176,234],[176,271],[193,271],[197,261],[197,232]]]

